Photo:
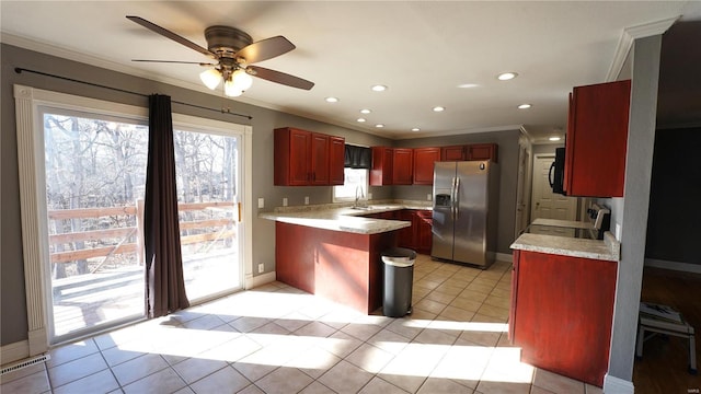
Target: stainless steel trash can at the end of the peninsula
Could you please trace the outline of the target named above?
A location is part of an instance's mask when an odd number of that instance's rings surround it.
[[[402,317],[412,313],[412,285],[416,252],[394,247],[382,252],[384,263],[384,289],[382,313],[389,317]]]

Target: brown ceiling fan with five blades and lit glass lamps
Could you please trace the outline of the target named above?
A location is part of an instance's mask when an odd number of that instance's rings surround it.
[[[204,48],[140,16],[127,16],[127,19],[208,56],[216,62],[141,59],[135,59],[133,61],[189,63],[210,67],[202,72],[199,78],[203,83],[211,90],[217,89],[219,83],[223,81],[223,91],[228,96],[239,96],[246,89],[251,88],[253,83],[251,76],[303,90],[310,90],[314,86],[313,82],[304,79],[285,72],[252,66],[252,63],[272,59],[295,49],[295,45],[283,36],[275,36],[254,43],[251,36],[243,31],[235,27],[216,25],[205,30],[207,48]]]

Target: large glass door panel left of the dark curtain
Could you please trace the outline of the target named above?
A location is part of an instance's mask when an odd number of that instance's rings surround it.
[[[143,316],[148,127],[45,108],[49,341]]]

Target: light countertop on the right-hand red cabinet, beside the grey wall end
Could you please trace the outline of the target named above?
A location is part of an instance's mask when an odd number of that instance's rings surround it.
[[[514,241],[512,248],[609,262],[621,258],[621,244],[609,231],[604,233],[602,241],[525,233]]]

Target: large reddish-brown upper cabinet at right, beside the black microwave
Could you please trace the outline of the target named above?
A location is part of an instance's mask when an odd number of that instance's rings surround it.
[[[567,195],[623,197],[631,81],[574,88],[570,95]]]

